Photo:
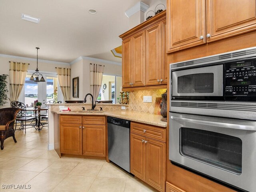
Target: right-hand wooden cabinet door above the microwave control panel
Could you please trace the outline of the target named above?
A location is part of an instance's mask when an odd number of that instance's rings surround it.
[[[207,42],[256,30],[255,0],[208,0]]]

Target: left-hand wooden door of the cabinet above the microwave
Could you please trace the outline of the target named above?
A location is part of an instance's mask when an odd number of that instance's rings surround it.
[[[167,0],[167,26],[169,53],[205,44],[205,0]]]

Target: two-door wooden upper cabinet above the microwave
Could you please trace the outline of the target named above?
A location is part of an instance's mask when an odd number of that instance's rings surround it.
[[[256,30],[255,0],[167,0],[167,52]]]

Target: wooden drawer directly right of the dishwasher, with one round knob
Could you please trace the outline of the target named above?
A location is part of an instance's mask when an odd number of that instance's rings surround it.
[[[131,122],[131,132],[166,142],[166,129]]]

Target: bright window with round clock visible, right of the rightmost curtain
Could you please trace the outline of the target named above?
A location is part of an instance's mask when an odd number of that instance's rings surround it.
[[[122,90],[122,77],[103,74],[100,94],[97,100],[119,103],[119,95]]]

